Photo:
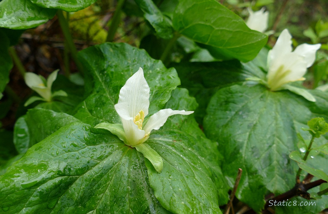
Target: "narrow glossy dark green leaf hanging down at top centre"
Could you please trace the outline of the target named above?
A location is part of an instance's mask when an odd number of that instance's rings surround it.
[[[163,39],[173,37],[171,20],[162,14],[152,0],[135,0],[135,3],[144,12],[145,19],[153,26],[159,37]]]

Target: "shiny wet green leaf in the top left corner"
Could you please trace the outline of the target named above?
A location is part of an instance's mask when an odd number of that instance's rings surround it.
[[[0,2],[0,27],[34,28],[46,23],[55,13],[56,10],[38,7],[30,0],[2,0]]]

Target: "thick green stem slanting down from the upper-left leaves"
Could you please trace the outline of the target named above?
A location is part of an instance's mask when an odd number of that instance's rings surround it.
[[[67,47],[68,47],[69,51],[71,52],[72,58],[77,66],[77,69],[83,74],[84,73],[83,66],[80,63],[80,61],[77,59],[77,50],[76,50],[75,44],[73,42],[72,34],[70,32],[70,27],[68,25],[67,19],[63,15],[63,11],[58,10],[57,17],[58,17],[59,25],[60,25],[60,27],[63,31],[64,37],[65,37]]]

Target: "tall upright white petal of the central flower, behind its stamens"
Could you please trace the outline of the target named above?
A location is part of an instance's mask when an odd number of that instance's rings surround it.
[[[125,108],[124,112],[128,113],[129,117],[132,118],[134,118],[140,110],[144,111],[145,116],[148,115],[149,91],[149,86],[143,75],[143,70],[139,68],[121,88],[118,104],[124,103],[124,105],[120,105],[119,107]]]

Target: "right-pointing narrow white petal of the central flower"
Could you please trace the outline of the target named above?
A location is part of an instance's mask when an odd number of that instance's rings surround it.
[[[152,115],[144,125],[143,129],[146,133],[151,132],[153,129],[158,130],[161,126],[164,125],[167,118],[180,114],[180,115],[190,115],[194,113],[193,111],[186,112],[185,110],[179,111],[179,110],[172,110],[172,109],[162,109],[156,112],[154,115]]]

